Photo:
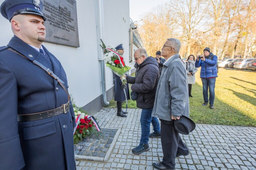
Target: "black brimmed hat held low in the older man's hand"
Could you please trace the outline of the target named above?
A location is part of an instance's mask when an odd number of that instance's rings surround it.
[[[183,135],[188,135],[196,128],[196,124],[186,116],[180,116],[179,119],[173,121],[174,128]]]

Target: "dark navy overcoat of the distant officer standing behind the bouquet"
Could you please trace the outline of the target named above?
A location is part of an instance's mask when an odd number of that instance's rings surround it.
[[[122,80],[120,79],[119,76],[115,75],[115,101],[125,101],[125,95],[124,95],[124,90],[121,88],[122,86]],[[129,92],[129,85],[126,83],[126,88],[125,88],[125,93],[127,100],[130,99],[130,92]]]

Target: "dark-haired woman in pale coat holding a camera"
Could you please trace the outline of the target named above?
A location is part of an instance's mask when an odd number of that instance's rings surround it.
[[[195,56],[193,55],[188,56],[187,62],[185,62],[185,68],[187,70],[187,75],[188,75],[188,95],[189,97],[193,97],[191,95],[191,89],[192,89],[192,84],[196,83],[195,73],[197,72],[197,68],[195,67]]]

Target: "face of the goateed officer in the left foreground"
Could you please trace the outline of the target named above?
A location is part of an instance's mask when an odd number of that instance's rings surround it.
[[[20,23],[20,33],[22,36],[33,42],[44,42],[46,31],[42,17],[32,14],[21,16],[24,17],[23,22]]]

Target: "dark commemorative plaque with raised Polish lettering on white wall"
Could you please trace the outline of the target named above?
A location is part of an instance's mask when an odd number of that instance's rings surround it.
[[[77,5],[75,0],[44,0],[42,13],[45,21],[46,41],[79,47]]]

